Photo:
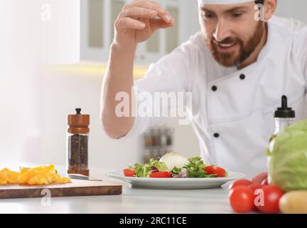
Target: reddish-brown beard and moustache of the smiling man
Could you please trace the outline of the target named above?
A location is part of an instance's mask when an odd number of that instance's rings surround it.
[[[217,42],[214,37],[210,40],[205,38],[205,43],[210,49],[213,58],[217,63],[225,67],[239,66],[242,62],[244,62],[249,56],[254,52],[260,41],[262,40],[262,36],[264,35],[265,26],[263,26],[263,21],[259,21],[257,24],[257,28],[254,31],[254,35],[249,38],[247,44],[244,46],[244,42],[240,38],[226,38],[224,41]],[[216,43],[237,43],[239,44],[239,54],[237,51],[232,53],[221,53],[217,50]]]

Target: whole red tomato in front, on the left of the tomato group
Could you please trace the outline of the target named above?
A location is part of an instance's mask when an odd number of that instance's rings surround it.
[[[229,192],[232,209],[238,213],[250,212],[254,209],[254,193],[250,187],[237,186]]]

